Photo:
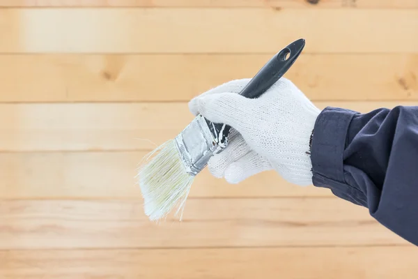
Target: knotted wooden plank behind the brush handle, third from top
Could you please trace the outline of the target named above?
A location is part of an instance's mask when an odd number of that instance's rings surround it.
[[[272,55],[0,55],[0,102],[188,101]],[[418,54],[302,54],[286,77],[311,100],[417,100]]]

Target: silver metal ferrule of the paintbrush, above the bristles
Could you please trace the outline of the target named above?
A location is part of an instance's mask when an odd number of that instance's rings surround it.
[[[210,157],[224,150],[228,144],[219,142],[219,136],[212,135],[206,119],[200,114],[187,125],[175,141],[186,172],[192,176],[199,174],[208,165]]]

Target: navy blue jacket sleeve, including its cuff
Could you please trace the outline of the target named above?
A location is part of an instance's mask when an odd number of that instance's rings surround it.
[[[311,140],[314,186],[365,206],[418,246],[418,107],[361,114],[327,107]]]

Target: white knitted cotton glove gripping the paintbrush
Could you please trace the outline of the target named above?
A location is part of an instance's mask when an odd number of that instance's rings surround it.
[[[189,110],[232,127],[229,146],[212,156],[210,173],[229,183],[274,169],[287,181],[312,184],[309,141],[320,110],[284,77],[261,97],[238,93],[250,79],[233,80],[189,102]]]

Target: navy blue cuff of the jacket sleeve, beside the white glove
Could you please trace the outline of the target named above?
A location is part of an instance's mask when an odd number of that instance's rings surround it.
[[[311,145],[312,172],[315,186],[324,187],[324,179],[345,183],[343,152],[348,127],[358,112],[326,107],[316,119]]]

